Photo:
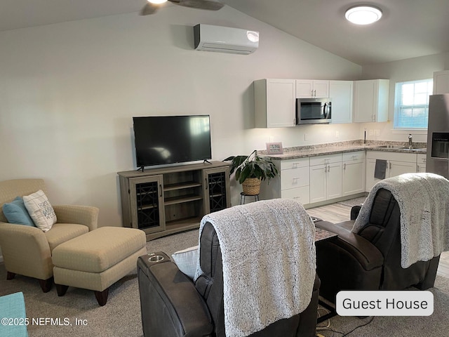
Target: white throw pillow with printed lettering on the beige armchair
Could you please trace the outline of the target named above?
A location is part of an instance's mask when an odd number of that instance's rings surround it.
[[[45,193],[39,190],[33,194],[25,195],[23,202],[36,227],[39,227],[43,232],[51,230],[53,224],[56,223],[56,214]]]

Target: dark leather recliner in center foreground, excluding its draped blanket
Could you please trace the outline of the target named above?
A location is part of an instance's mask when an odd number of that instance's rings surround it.
[[[147,256],[138,259],[145,336],[226,336],[222,256],[213,225],[206,223],[203,227],[200,251],[203,275],[195,283],[180,272],[166,254],[159,252],[156,255],[163,256],[163,260],[150,262]],[[316,336],[319,285],[316,277],[306,310],[274,322],[251,336]]]

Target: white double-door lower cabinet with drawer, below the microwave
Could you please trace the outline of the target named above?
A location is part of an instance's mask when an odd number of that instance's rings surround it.
[[[310,159],[310,203],[342,196],[342,154]]]

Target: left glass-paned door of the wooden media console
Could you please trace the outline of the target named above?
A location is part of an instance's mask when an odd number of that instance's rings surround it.
[[[146,233],[165,230],[163,176],[130,178],[129,193],[135,196],[130,198],[130,227]]]

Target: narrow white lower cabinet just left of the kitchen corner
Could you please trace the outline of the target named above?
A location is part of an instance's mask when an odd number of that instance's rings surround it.
[[[365,151],[343,154],[342,197],[365,192]]]

